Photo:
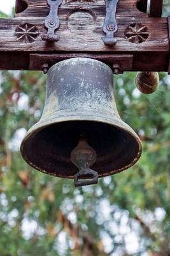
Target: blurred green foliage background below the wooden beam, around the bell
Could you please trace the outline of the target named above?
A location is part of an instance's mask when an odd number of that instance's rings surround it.
[[[159,90],[142,95],[135,76],[115,77],[115,94],[122,119],[143,142],[141,159],[95,186],[74,188],[20,156],[20,141],[43,110],[46,76],[1,72],[1,256],[170,255],[170,77],[160,73]]]

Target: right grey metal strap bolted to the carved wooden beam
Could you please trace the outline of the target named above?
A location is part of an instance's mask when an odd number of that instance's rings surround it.
[[[117,32],[117,4],[119,0],[105,0],[106,1],[106,17],[104,20],[103,32],[106,36],[103,37],[103,42],[107,46],[114,46],[117,44],[117,39],[114,38],[114,33]]]

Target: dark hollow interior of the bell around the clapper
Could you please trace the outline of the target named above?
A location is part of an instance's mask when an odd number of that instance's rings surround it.
[[[71,152],[82,136],[96,150],[97,161],[92,168],[99,177],[122,172],[141,156],[141,141],[129,125],[122,122],[119,127],[83,120],[55,122],[31,129],[22,141],[21,154],[40,172],[73,179],[78,168],[71,162]]]

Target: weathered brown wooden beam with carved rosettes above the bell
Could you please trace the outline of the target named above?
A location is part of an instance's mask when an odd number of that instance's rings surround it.
[[[58,42],[45,42],[41,38],[46,33],[44,22],[49,13],[46,0],[17,0],[16,11],[15,18],[0,19],[1,69],[41,70],[41,65],[30,65],[30,56],[41,54],[43,59],[45,54],[52,53],[55,58],[59,54],[59,60],[69,58],[70,54],[89,54],[89,57],[90,54],[97,54],[100,60],[103,60],[103,55],[107,59],[111,54],[131,54],[131,70],[168,69],[168,20],[149,17],[144,12],[146,1],[118,2],[118,31],[115,33],[118,41],[113,47],[104,45],[101,39],[104,36],[103,24],[106,15],[104,0],[63,0],[59,6],[60,26],[56,31],[60,36]],[[120,65],[122,62],[120,61]],[[128,63],[122,69],[129,70]]]

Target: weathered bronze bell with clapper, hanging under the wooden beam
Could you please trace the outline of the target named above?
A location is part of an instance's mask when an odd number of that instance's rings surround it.
[[[118,115],[111,68],[89,58],[53,65],[43,115],[20,150],[33,168],[74,179],[76,186],[96,184],[98,177],[135,164],[141,141]]]

